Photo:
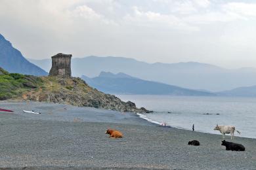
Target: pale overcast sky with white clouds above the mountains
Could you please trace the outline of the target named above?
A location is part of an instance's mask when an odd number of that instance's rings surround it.
[[[32,59],[62,52],[256,67],[253,0],[0,0],[0,33]]]

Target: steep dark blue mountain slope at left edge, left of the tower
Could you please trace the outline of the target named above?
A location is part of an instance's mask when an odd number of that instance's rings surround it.
[[[25,75],[48,75],[46,71],[30,63],[22,56],[20,51],[12,47],[11,42],[7,41],[0,34],[0,67],[10,73],[22,73]]]

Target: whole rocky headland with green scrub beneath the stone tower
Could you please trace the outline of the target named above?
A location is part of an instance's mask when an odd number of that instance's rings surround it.
[[[3,73],[0,75],[0,100],[45,101],[121,112],[149,112],[144,108],[137,109],[131,101],[125,103],[114,95],[99,92],[81,78],[37,77],[0,71]]]

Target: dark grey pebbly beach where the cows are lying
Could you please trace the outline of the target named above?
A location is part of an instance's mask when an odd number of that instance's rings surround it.
[[[256,169],[256,139],[160,127],[135,114],[47,103],[0,102],[0,167],[70,169]],[[23,113],[35,110],[42,114]],[[110,139],[108,127],[123,139]],[[190,146],[188,141],[200,141]],[[230,141],[230,136],[226,136]]]

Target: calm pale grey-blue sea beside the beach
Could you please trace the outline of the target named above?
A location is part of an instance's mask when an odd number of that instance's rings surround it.
[[[117,96],[135,102],[137,107],[154,110],[145,115],[151,122],[166,122],[169,126],[190,130],[194,124],[195,131],[215,134],[221,134],[213,130],[216,124],[233,125],[242,132],[241,137],[256,138],[256,98],[253,97]]]

